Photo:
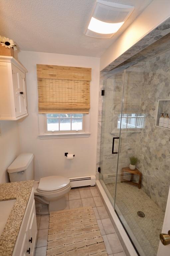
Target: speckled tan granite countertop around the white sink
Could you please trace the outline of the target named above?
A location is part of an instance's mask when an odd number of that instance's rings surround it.
[[[1,256],[13,253],[33,185],[32,180],[0,184],[0,201],[16,199],[0,237]]]

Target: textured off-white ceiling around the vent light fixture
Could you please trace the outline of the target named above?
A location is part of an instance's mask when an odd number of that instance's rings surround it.
[[[95,0],[1,0],[0,34],[20,50],[100,57],[152,0],[109,0],[135,6],[110,39],[85,36]]]

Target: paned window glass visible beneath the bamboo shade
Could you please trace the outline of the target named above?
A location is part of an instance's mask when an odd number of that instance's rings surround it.
[[[79,132],[83,131],[83,128],[83,114],[46,114],[47,132]]]

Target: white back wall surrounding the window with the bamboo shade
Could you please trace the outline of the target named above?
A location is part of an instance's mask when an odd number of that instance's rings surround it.
[[[38,180],[49,175],[75,177],[95,174],[99,58],[21,51],[18,54],[18,59],[28,70],[26,84],[29,116],[18,121],[21,152],[32,152],[35,155],[35,179]],[[92,68],[90,137],[66,139],[40,139],[38,137],[36,64]],[[64,156],[65,152],[74,153],[74,159],[67,160]]]

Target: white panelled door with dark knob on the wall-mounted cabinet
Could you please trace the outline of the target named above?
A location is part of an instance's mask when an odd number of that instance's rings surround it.
[[[27,113],[25,74],[12,65],[16,117]]]

